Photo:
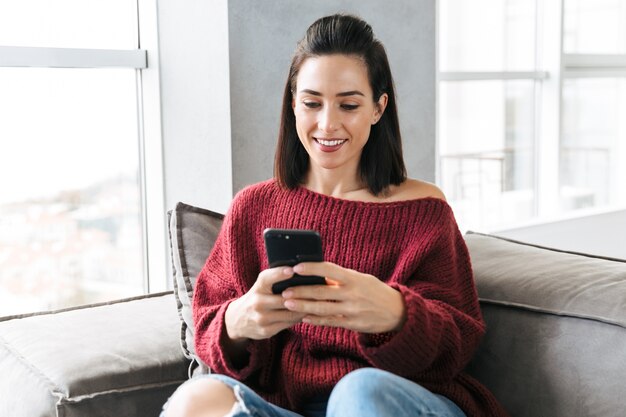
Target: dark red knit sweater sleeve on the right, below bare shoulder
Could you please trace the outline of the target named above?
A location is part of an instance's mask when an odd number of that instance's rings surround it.
[[[443,216],[388,284],[402,293],[407,320],[395,333],[359,334],[370,363],[411,379],[454,378],[480,342],[480,313],[469,253],[452,213]]]

